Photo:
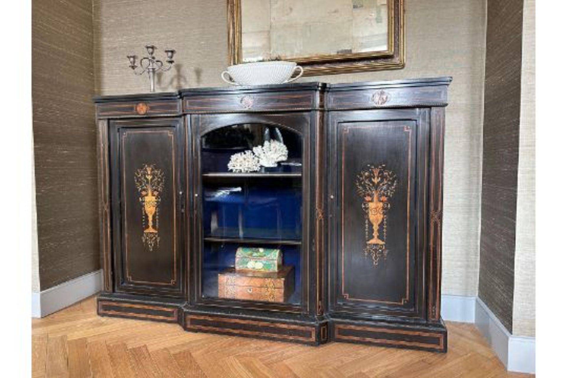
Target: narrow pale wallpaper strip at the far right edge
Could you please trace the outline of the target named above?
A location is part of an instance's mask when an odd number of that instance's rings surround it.
[[[535,336],[535,0],[524,0],[513,334]]]

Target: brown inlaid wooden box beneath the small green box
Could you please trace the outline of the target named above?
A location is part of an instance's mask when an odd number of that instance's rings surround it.
[[[218,274],[219,298],[284,303],[294,289],[293,266],[277,272],[239,271],[234,267]]]

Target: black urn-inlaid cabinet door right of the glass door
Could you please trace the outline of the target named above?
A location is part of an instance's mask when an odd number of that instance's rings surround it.
[[[424,318],[427,109],[329,113],[329,310]]]

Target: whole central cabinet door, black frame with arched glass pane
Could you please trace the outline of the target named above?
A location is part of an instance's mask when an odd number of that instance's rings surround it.
[[[314,216],[309,185],[314,171],[312,151],[304,146],[312,135],[310,119],[310,113],[192,116],[194,303],[293,313],[312,308],[307,268],[314,256],[307,236]],[[286,157],[276,167],[229,168],[232,156],[268,139],[286,146]],[[237,250],[279,254],[280,273],[235,274]],[[279,282],[275,291],[273,282]]]

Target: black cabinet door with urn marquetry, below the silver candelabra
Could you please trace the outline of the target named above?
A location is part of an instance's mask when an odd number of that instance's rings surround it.
[[[179,119],[111,121],[115,290],[183,294],[183,128]]]

